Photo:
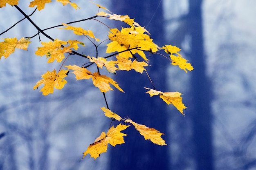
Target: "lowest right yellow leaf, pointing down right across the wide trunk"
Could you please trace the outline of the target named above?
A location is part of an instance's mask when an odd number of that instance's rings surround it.
[[[142,136],[144,136],[145,140],[149,139],[154,144],[161,145],[161,146],[167,145],[161,137],[161,135],[164,135],[164,133],[161,133],[154,128],[148,128],[145,125],[137,124],[131,119],[126,119],[125,122],[132,124],[135,127],[135,129],[138,130]]]

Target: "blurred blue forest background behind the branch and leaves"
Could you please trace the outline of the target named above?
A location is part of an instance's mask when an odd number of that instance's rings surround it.
[[[30,1],[19,7],[30,14]],[[41,28],[89,18],[98,8],[88,1],[74,0],[75,10],[59,2],[45,5],[31,19]],[[120,15],[135,18],[151,33],[159,46],[172,44],[194,66],[185,73],[158,55],[148,58],[148,73],[159,91],[183,93],[188,108],[183,117],[162,99],[149,97],[146,74],[118,72],[113,75],[125,94],[106,94],[110,109],[139,124],[164,132],[167,146],[145,141],[135,130],[124,137],[126,144],[109,146],[94,161],[82,153],[110,120],[104,116],[103,95],[90,80],[67,84],[48,96],[32,90],[40,75],[59,68],[47,64],[45,56],[34,54],[41,46],[35,37],[28,51],[16,50],[0,60],[0,170],[253,170],[256,167],[256,11],[254,0],[95,0]],[[0,9],[0,33],[23,16],[7,5]],[[110,27],[120,22],[104,18]],[[108,29],[96,21],[72,24],[90,29],[105,40]],[[126,26],[126,25],[123,25]],[[37,33],[24,20],[0,38],[29,37]],[[47,33],[60,40],[80,40],[80,52],[95,56],[94,46],[71,31],[51,29]],[[42,42],[47,38],[40,36]],[[1,40],[2,41],[2,40]],[[106,46],[102,44],[100,55]],[[75,62],[75,63],[74,63]],[[72,56],[67,64],[86,61]],[[108,74],[108,73],[106,73]],[[135,78],[137,77],[137,79]],[[124,79],[125,78],[125,79]]]

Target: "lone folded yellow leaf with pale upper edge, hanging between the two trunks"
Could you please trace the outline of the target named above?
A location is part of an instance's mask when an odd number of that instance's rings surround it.
[[[146,88],[146,87],[144,87]],[[182,93],[179,92],[162,92],[162,91],[156,91],[154,89],[151,88],[146,88],[149,91],[147,91],[146,93],[148,93],[150,95],[150,97],[152,97],[153,95],[159,95],[159,97],[161,99],[164,100],[164,102],[166,102],[166,104],[173,104],[173,106],[175,106],[182,115],[184,115],[183,113],[183,109],[186,109],[186,106],[184,106],[184,104],[182,103],[182,97],[180,97],[180,95],[182,95]],[[184,115],[185,116],[185,115]]]

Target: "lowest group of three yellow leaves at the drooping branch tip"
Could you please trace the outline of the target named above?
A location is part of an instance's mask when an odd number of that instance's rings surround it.
[[[101,108],[104,112],[106,117],[114,118],[118,121],[123,120],[125,123],[129,123],[135,127],[136,130],[139,131],[139,133],[144,136],[145,140],[150,140],[154,144],[157,145],[166,145],[165,141],[162,139],[161,135],[164,135],[164,133],[159,132],[158,130],[154,128],[149,128],[142,124],[137,124],[131,119],[123,119],[116,113],[113,113],[111,110],[103,107]],[[107,134],[105,132],[102,132],[97,139],[95,139],[94,143],[90,144],[87,148],[87,150],[83,153],[83,158],[90,154],[91,157],[96,159],[101,155],[103,152],[107,152],[108,144],[111,144],[112,146],[116,146],[118,144],[124,144],[124,136],[127,136],[127,134],[122,133],[122,130],[125,130],[130,125],[124,125],[119,124],[116,127],[112,126]],[[82,158],[82,159],[83,159]]]

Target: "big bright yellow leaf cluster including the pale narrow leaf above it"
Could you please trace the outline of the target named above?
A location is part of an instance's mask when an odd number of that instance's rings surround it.
[[[157,44],[153,43],[153,40],[149,37],[148,33],[144,27],[141,27],[134,19],[130,19],[128,15],[116,15],[109,14],[105,12],[99,12],[97,15],[109,16],[110,20],[119,20],[130,25],[129,28],[122,28],[121,31],[118,29],[110,29],[109,39],[112,41],[107,44],[108,48],[106,53],[112,52],[122,52],[120,53],[122,57],[129,59],[132,58],[134,54],[140,55],[144,60],[148,61],[144,51],[149,51],[155,53],[158,51],[159,47]],[[149,34],[149,33],[148,33]]]

